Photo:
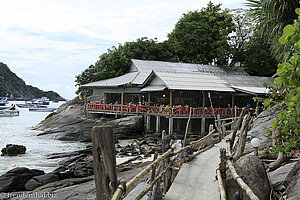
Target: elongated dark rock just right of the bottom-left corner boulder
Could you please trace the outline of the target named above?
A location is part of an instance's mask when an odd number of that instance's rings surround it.
[[[48,173],[39,176],[34,176],[32,179],[27,181],[25,184],[26,190],[34,190],[40,186],[46,185],[47,183],[55,182],[59,180],[59,174]]]

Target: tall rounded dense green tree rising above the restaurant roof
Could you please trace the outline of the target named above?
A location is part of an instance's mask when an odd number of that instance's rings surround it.
[[[206,8],[183,14],[168,35],[173,61],[227,66],[232,49],[229,34],[235,30],[228,10],[209,2]]]

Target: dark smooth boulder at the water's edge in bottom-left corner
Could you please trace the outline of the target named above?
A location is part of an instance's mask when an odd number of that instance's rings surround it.
[[[26,190],[25,184],[34,176],[43,175],[45,172],[37,169],[18,167],[0,176],[0,192],[13,192]]]

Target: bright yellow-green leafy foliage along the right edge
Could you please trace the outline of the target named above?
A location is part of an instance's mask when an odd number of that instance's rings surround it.
[[[270,99],[264,105],[270,107],[279,104],[284,110],[278,119],[272,121],[272,128],[279,128],[281,134],[276,136],[279,142],[271,148],[272,151],[290,152],[300,149],[300,8],[296,9],[298,18],[294,24],[284,27],[279,42],[288,49],[283,62],[278,64],[275,84]]]

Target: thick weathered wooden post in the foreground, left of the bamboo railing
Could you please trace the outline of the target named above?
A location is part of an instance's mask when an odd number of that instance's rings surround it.
[[[96,126],[92,129],[93,160],[96,185],[96,199],[108,200],[113,191],[109,184],[116,186],[116,156],[112,127]]]

